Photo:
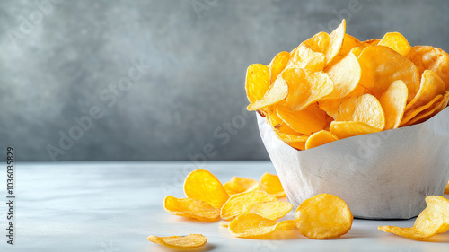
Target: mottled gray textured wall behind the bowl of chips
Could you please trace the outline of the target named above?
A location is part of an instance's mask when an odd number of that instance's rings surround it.
[[[0,1],[0,157],[13,145],[21,161],[51,161],[48,146],[57,161],[267,159],[242,112],[246,67],[339,13],[358,39],[397,30],[449,50],[447,0]],[[92,108],[102,117],[76,127]],[[60,145],[71,130],[79,139]]]

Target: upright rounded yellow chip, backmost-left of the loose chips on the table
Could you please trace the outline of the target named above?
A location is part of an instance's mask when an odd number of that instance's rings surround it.
[[[221,208],[229,196],[220,180],[206,169],[195,169],[184,181],[184,194]]]

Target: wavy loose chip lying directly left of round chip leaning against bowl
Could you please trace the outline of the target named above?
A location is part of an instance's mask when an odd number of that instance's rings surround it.
[[[229,223],[229,230],[234,237],[264,238],[276,230],[293,230],[293,220],[274,222],[254,213],[244,213]]]

